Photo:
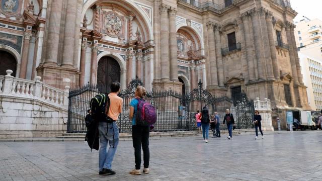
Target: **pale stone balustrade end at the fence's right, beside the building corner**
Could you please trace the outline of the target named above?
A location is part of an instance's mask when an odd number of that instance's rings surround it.
[[[255,110],[260,112],[262,117],[262,129],[264,131],[274,131],[272,124],[272,108],[271,101],[265,98],[264,101],[261,101],[259,98],[256,98],[254,101]]]

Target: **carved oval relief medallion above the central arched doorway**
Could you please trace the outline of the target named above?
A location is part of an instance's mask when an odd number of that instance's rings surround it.
[[[108,36],[116,38],[120,35],[122,28],[121,18],[114,12],[105,16],[105,29]]]

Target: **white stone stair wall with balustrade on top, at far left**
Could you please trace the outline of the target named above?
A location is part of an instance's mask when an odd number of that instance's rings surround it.
[[[0,76],[0,138],[51,137],[66,132],[69,86]]]

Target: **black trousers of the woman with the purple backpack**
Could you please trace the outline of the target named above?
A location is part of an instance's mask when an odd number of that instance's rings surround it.
[[[141,145],[143,150],[143,166],[149,167],[149,126],[132,126],[132,139],[135,155],[135,169],[141,169]]]

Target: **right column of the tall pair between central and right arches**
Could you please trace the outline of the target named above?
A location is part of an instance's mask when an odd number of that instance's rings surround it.
[[[169,31],[170,31],[170,79],[178,80],[178,52],[177,52],[177,31],[176,14],[178,10],[171,8],[169,11]]]

